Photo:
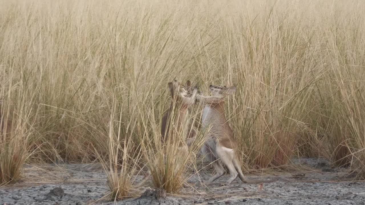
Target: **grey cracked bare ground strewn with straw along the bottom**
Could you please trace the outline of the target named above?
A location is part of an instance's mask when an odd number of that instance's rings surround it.
[[[207,168],[192,174],[189,187],[179,195],[147,191],[150,183],[135,190],[135,196],[124,201],[108,201],[107,178],[98,164],[87,165],[27,165],[23,181],[0,187],[0,205],[85,205],[85,204],[326,204],[365,205],[365,183],[351,182],[346,169],[331,169],[327,162],[318,159],[293,159],[293,167],[301,171],[265,172],[249,174],[248,178],[279,181],[263,186],[243,184],[237,178],[231,185],[222,184],[229,178],[224,175],[215,183],[204,184],[211,176]],[[142,178],[136,176],[135,183]],[[144,193],[144,194],[143,194]],[[159,194],[160,193],[160,194]],[[144,195],[141,197],[141,194]]]

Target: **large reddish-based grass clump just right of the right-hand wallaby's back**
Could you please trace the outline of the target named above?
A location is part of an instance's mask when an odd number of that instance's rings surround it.
[[[232,70],[223,75],[223,84],[238,87],[227,111],[241,158],[251,167],[266,168],[285,165],[293,156],[298,134],[311,122],[311,100],[322,71],[311,69],[318,66],[312,53],[319,50],[312,38],[304,38],[300,27],[284,23],[273,7],[260,13],[244,26],[226,23],[222,35],[230,39],[226,42],[230,46],[223,48],[221,58],[235,59],[231,50],[245,56],[222,66]],[[232,35],[233,30],[244,32]]]

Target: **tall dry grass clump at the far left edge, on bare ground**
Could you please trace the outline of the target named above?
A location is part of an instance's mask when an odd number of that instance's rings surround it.
[[[11,80],[12,72],[1,73],[0,186],[15,183],[23,177],[23,164],[29,156],[28,136],[34,132],[30,120],[31,105],[21,93],[24,85]],[[20,93],[14,96],[16,91]]]

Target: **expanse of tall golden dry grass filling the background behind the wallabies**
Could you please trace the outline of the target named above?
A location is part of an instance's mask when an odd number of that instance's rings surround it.
[[[24,163],[102,162],[122,197],[141,161],[176,192],[196,163],[159,145],[175,77],[237,86],[244,171],[324,157],[364,179],[364,22],[361,0],[1,1],[0,184]]]

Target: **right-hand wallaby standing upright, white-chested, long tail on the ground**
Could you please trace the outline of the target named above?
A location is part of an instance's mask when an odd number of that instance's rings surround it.
[[[201,148],[201,153],[205,155],[205,158],[214,166],[216,174],[212,176],[208,182],[213,182],[221,177],[225,170],[221,162],[228,168],[231,174],[231,178],[228,179],[226,184],[230,184],[237,176],[244,183],[265,183],[274,182],[272,180],[248,180],[242,173],[241,165],[238,160],[237,142],[233,137],[231,127],[227,123],[227,119],[224,115],[224,98],[232,95],[236,87],[231,86],[209,86],[213,96],[202,96],[197,94],[197,101],[204,105],[204,109],[201,116],[202,129],[207,129],[207,140]],[[219,160],[220,159],[220,160]]]

